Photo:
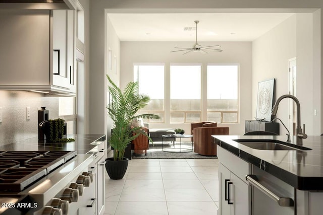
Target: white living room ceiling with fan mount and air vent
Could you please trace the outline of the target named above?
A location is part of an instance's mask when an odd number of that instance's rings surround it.
[[[121,41],[253,41],[293,13],[107,14]]]

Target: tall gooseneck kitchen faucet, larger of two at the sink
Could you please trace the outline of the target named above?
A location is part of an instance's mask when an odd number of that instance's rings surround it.
[[[299,104],[298,99],[295,96],[288,95],[288,94],[279,97],[276,100],[276,103],[275,103],[275,105],[273,107],[272,116],[274,118],[276,117],[276,114],[277,114],[277,111],[278,111],[278,105],[281,102],[281,100],[284,99],[284,98],[291,98],[296,103],[296,106],[297,106],[296,145],[302,146],[303,145],[303,139],[307,138],[307,134],[305,133],[305,128],[304,128],[304,133],[303,133],[303,130],[302,130],[302,127],[301,127],[301,105]]]

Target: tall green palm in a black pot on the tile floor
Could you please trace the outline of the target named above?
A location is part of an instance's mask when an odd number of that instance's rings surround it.
[[[159,119],[160,117],[155,114],[137,115],[137,112],[150,101],[149,96],[139,94],[138,82],[129,82],[122,91],[108,75],[106,77],[111,84],[108,88],[112,101],[106,108],[114,121],[110,137],[111,147],[114,148],[114,157],[105,159],[105,168],[111,179],[122,179],[128,167],[129,159],[124,158],[128,144],[139,134],[147,136],[152,141],[140,126],[130,126],[132,120],[136,118]]]

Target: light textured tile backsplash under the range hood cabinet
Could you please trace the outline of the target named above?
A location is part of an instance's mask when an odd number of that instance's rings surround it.
[[[30,108],[27,120],[26,108]],[[0,145],[38,137],[38,110],[46,107],[49,119],[59,116],[59,98],[41,93],[0,91]]]

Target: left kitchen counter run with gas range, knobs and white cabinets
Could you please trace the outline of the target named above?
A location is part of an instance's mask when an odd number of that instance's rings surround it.
[[[105,135],[67,137],[0,147],[0,214],[103,214]]]

